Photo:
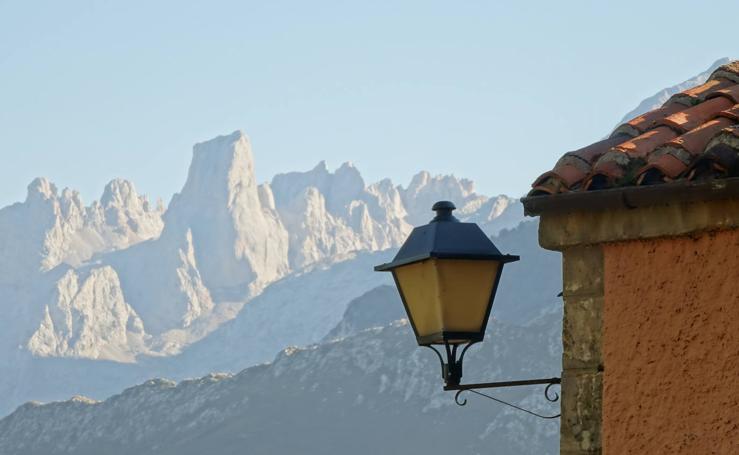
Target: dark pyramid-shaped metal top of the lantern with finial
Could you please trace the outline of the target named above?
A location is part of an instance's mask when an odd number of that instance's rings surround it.
[[[502,254],[477,224],[460,222],[452,215],[455,209],[449,201],[434,204],[434,219],[413,229],[393,261],[376,266],[375,271],[390,271],[429,258],[518,261],[518,256]]]

